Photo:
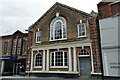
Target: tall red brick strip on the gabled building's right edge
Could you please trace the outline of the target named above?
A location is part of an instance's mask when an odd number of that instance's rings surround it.
[[[94,72],[101,73],[101,51],[99,45],[99,32],[96,24],[96,19],[90,20],[90,37],[92,40],[92,53],[93,53],[93,64]]]

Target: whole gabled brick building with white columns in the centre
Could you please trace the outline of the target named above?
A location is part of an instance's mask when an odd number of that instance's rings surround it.
[[[96,22],[95,12],[90,15],[55,3],[28,29],[26,73],[33,76],[101,75]]]

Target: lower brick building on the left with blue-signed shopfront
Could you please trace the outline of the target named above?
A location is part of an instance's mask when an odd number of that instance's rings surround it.
[[[12,35],[0,37],[0,74],[25,74],[28,33],[17,30]]]

